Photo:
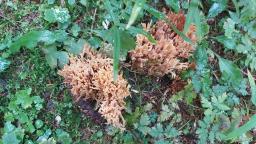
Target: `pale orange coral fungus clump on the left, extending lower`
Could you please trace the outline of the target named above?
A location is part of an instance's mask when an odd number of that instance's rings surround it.
[[[125,108],[124,98],[129,96],[127,81],[118,75],[113,81],[113,60],[94,52],[88,45],[79,57],[71,57],[70,63],[59,71],[64,82],[71,86],[74,100],[96,100],[99,113],[121,129],[125,126],[121,111]]]

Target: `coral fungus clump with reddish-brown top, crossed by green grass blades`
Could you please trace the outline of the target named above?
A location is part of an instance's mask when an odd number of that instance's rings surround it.
[[[169,12],[167,18],[180,30],[184,28],[186,18],[182,12]],[[150,27],[142,24],[157,43],[152,44],[144,35],[137,35],[137,46],[130,52],[131,66],[139,73],[163,76],[186,69],[189,66],[188,58],[194,51],[193,47],[177,35],[165,21],[157,21]],[[195,26],[191,25],[186,33],[193,42],[196,41]]]

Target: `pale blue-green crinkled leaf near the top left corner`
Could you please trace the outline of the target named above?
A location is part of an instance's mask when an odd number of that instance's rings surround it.
[[[70,15],[67,8],[55,7],[45,10],[44,19],[50,23],[66,23],[69,21]]]

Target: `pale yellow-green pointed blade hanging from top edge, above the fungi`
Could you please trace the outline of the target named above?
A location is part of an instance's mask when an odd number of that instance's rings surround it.
[[[135,2],[135,5],[132,8],[132,13],[131,16],[129,18],[128,24],[126,26],[126,29],[129,29],[130,26],[135,22],[135,20],[137,19],[140,11],[143,9],[145,4],[145,0],[137,0]]]

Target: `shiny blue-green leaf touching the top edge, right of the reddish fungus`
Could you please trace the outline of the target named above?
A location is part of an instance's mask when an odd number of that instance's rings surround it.
[[[208,12],[208,18],[213,18],[217,16],[219,13],[223,12],[227,7],[227,2],[226,0],[220,1],[220,2],[215,2],[211,6],[209,12]]]

